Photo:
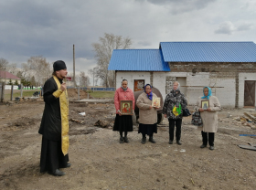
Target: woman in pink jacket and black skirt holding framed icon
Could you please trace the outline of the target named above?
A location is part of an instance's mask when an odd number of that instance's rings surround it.
[[[122,115],[121,114],[121,107],[120,101],[121,100],[133,100],[133,111],[134,111],[134,95],[133,90],[128,88],[128,81],[127,79],[123,79],[122,86],[115,90],[114,93],[114,106],[116,110],[116,117],[113,125],[113,131],[120,132],[120,143],[129,142],[127,138],[128,132],[133,132],[133,117],[132,115]],[[132,109],[132,108],[130,108]],[[124,132],[124,138],[123,138]]]

